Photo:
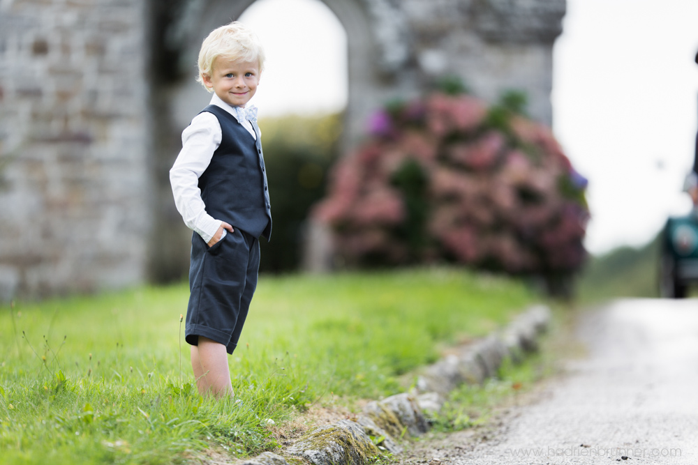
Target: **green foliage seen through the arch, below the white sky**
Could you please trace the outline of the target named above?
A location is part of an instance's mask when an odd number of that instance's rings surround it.
[[[325,193],[327,169],[336,159],[341,114],[262,119],[273,240],[261,241],[260,270],[295,270],[302,259],[304,220]]]

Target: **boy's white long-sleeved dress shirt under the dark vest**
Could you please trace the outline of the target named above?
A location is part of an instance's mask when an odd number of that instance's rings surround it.
[[[223,102],[214,93],[211,105],[221,107],[235,116],[235,119],[257,139],[255,130],[249,120],[239,121],[235,109]],[[221,227],[221,220],[206,213],[206,206],[201,199],[199,176],[209,166],[214,152],[221,145],[221,123],[212,113],[203,112],[191,120],[191,124],[181,133],[181,151],[170,169],[170,184],[174,195],[174,205],[184,219],[184,224],[196,231],[208,243]],[[232,186],[231,186],[232,188]],[[223,236],[225,237],[225,229]]]

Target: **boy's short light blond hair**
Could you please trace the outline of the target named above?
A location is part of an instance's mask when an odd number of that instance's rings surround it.
[[[209,92],[213,92],[213,89],[206,86],[203,75],[211,76],[214,61],[218,56],[235,61],[257,61],[260,74],[264,69],[265,53],[262,43],[257,34],[241,22],[233,21],[214,29],[201,44],[198,60],[199,75],[196,81]]]

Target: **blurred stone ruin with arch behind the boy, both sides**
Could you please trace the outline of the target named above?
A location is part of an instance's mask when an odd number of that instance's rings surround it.
[[[445,74],[486,100],[526,91],[551,122],[565,0],[323,1],[348,35],[347,144],[372,109]],[[0,298],[180,280],[188,234],[168,171],[201,107],[181,97],[206,97],[196,50],[253,0],[53,3],[1,8]]]

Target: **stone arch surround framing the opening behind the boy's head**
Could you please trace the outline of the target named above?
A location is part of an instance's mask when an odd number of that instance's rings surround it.
[[[170,13],[172,20],[168,28],[161,31],[170,41],[177,41],[172,59],[179,64],[179,69],[172,73],[177,79],[164,85],[154,83],[151,92],[156,127],[152,153],[159,203],[154,223],[164,226],[164,229],[158,228],[157,238],[151,241],[150,247],[150,273],[156,281],[181,278],[181,270],[186,270],[188,264],[186,241],[191,233],[181,226],[181,219],[172,204],[169,180],[163,173],[168,171],[179,151],[181,130],[210,98],[193,79],[200,44],[209,31],[237,19],[254,1],[183,1],[179,4],[179,11]],[[386,100],[392,81],[387,79],[386,70],[379,65],[382,63],[381,47],[376,45],[370,12],[364,2],[324,0],[324,3],[337,16],[348,36],[349,99],[344,130],[345,144],[348,145],[361,134],[369,112]],[[173,253],[177,250],[182,252]]]

